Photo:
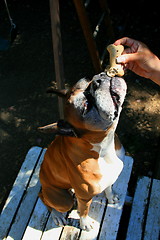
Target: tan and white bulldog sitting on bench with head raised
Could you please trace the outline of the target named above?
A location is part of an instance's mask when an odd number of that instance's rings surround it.
[[[118,197],[112,184],[123,168],[124,149],[115,135],[126,83],[102,72],[92,80],[81,79],[64,96],[65,121],[40,128],[59,134],[48,147],[40,170],[40,197],[54,222],[65,225],[64,212],[73,206],[70,189],[78,202],[80,227],[89,231],[88,216],[93,196],[105,191],[109,203]]]

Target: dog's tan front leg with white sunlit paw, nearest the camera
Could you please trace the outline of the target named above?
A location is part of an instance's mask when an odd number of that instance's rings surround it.
[[[94,220],[88,216],[89,208],[92,202],[90,200],[77,199],[78,213],[80,215],[80,227],[82,230],[90,231],[93,229]]]

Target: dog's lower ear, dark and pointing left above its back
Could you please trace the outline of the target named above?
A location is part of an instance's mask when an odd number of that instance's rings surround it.
[[[65,120],[59,120],[57,123],[39,127],[38,130],[43,133],[54,133],[56,135],[78,137],[76,129]]]

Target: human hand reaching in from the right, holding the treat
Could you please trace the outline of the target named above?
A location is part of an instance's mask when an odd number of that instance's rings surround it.
[[[115,41],[114,44],[128,47],[117,58],[117,63],[124,64],[136,74],[160,84],[160,60],[144,43],[124,37]]]

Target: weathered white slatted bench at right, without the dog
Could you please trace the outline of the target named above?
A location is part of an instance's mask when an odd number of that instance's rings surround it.
[[[138,180],[126,240],[160,239],[160,180]]]

